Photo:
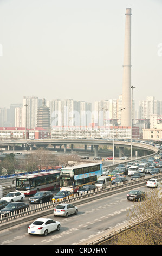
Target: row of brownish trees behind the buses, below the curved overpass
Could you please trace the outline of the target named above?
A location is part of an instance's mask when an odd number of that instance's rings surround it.
[[[79,157],[74,155],[57,155],[43,148],[35,150],[32,154],[25,155],[25,157],[15,157],[14,153],[10,153],[0,163],[0,175],[50,169],[62,164],[67,166],[68,161],[79,161]]]

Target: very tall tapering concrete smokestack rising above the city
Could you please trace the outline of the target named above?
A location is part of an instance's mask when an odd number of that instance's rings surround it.
[[[131,126],[131,8],[126,9],[121,126]]]

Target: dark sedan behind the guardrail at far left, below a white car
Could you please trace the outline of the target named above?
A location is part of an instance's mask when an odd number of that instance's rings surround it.
[[[27,211],[28,209],[29,204],[25,204],[23,202],[12,202],[5,206],[5,208],[1,209],[0,214],[5,217],[11,214],[18,214],[24,210]]]

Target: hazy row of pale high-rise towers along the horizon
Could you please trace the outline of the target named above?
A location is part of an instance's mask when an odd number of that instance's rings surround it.
[[[44,102],[44,103],[43,103]],[[10,108],[0,108],[0,127],[40,127],[37,123],[38,109],[49,109],[50,126],[109,126],[115,119],[115,125],[121,124],[122,96],[118,99],[95,101],[94,107],[85,101],[73,99],[52,100],[39,99],[38,97],[24,96],[22,104],[11,104]],[[152,115],[157,118],[162,116],[162,100],[158,101],[154,96],[147,96],[139,101],[135,109],[132,105],[132,118],[135,126],[141,126],[141,122],[150,123]],[[158,117],[159,116],[159,117]],[[47,120],[47,117],[45,118]],[[127,126],[127,125],[126,125]]]

